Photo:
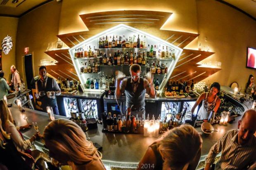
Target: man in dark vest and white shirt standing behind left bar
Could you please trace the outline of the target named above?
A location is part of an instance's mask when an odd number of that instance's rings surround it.
[[[41,107],[43,108],[43,112],[47,112],[46,107],[50,106],[52,107],[53,113],[59,115],[57,100],[54,95],[60,95],[61,90],[55,79],[47,77],[45,66],[39,68],[39,75],[40,79],[36,82],[36,98],[42,102]],[[47,92],[50,92],[50,98]]]

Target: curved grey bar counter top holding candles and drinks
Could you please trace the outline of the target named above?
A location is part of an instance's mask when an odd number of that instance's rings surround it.
[[[82,95],[88,97],[88,93],[83,93]],[[95,95],[95,97],[100,96],[94,93],[91,95]],[[79,94],[79,96],[81,95]],[[15,100],[16,97],[9,99],[8,103],[12,103],[10,110],[12,112],[13,119],[17,123],[17,126],[26,125],[27,122],[32,124],[33,121],[36,121],[39,126],[39,131],[42,134],[45,126],[47,126],[47,124],[50,122],[48,119],[48,114],[26,108],[25,113],[27,119],[25,120],[24,114],[19,111],[19,108],[15,104]],[[249,105],[249,102],[244,102],[241,104],[245,110],[251,108],[251,104]],[[68,117],[65,116],[55,115],[55,119],[59,118],[68,119]],[[209,135],[201,135],[203,139],[201,160],[207,156],[209,149],[213,146],[213,144],[215,144],[228,130],[237,129],[239,119],[241,119],[241,116],[237,117],[231,124],[228,123],[227,126],[215,124],[213,127],[215,130],[218,130],[218,132],[213,132]],[[88,130],[88,135],[90,137],[90,141],[97,142],[102,146],[102,161],[106,167],[134,167],[145,154],[148,146],[152,144],[154,140],[156,140],[154,137],[143,137],[143,135],[140,134],[102,133],[102,125],[98,124],[97,126],[97,129]],[[200,127],[196,129],[198,132],[202,132]],[[30,138],[36,133],[36,131],[33,127],[31,127],[28,130],[22,131],[22,133],[24,134],[25,138]],[[36,145],[43,147],[41,141],[36,142]]]

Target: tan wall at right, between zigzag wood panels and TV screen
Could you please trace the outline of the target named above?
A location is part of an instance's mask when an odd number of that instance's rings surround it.
[[[250,74],[246,68],[247,47],[256,48],[256,21],[215,0],[197,0],[198,42],[208,37],[210,49],[216,54],[206,61],[221,61],[219,72],[203,80],[230,85],[238,82],[244,88]]]

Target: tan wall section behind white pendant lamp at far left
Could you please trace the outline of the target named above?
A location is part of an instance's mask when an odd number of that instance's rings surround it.
[[[2,52],[2,70],[5,71],[5,78],[10,81],[10,67],[11,65],[15,65],[15,46],[16,46],[16,33],[18,26],[18,18],[11,17],[0,17],[0,42],[2,44],[2,40],[8,34],[12,37],[12,49],[9,54],[5,55]],[[0,47],[2,49],[2,47]]]

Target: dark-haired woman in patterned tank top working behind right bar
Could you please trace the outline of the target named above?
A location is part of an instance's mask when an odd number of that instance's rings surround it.
[[[198,111],[198,120],[208,119],[211,111],[217,112],[220,107],[220,98],[217,93],[220,91],[220,84],[214,82],[211,84],[210,92],[202,93],[197,99],[196,103],[191,109],[191,112],[194,113],[195,108],[201,103],[203,103]]]

